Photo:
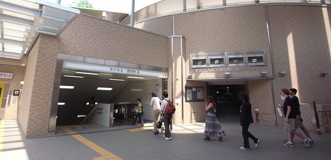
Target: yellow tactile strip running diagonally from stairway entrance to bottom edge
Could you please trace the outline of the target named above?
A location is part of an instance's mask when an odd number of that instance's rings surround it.
[[[77,127],[77,126],[75,126]],[[68,134],[74,134],[72,135],[76,140],[80,141],[81,143],[85,144],[86,146],[90,147],[91,149],[93,149],[95,152],[99,153],[102,157],[97,157],[97,158],[93,158],[93,160],[123,160],[119,157],[117,157],[116,155],[112,154],[111,152],[109,152],[108,150],[100,147],[99,145],[94,144],[93,142],[91,142],[90,140],[86,139],[85,137],[76,134],[76,132],[74,132],[73,130],[71,130],[70,128],[67,127],[59,127],[61,129],[63,129],[65,132],[67,132]]]

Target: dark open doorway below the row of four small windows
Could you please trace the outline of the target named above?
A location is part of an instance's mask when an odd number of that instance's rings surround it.
[[[238,121],[241,100],[239,92],[245,91],[245,85],[209,85],[209,95],[217,103],[216,116],[219,121]]]

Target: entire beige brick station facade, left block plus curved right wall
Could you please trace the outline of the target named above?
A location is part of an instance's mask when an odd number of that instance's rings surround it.
[[[328,7],[257,4],[154,18],[135,24],[139,29],[79,15],[58,37],[39,34],[28,58],[0,58],[0,71],[15,76],[0,81],[9,81],[10,91],[22,89],[20,102],[6,108],[5,117],[18,117],[26,137],[54,134],[48,132],[48,126],[55,64],[57,53],[65,53],[168,68],[169,97],[181,100],[175,104],[174,123],[203,122],[205,102],[185,102],[184,88],[204,87],[208,93],[208,83],[194,79],[225,76],[224,72],[191,68],[190,54],[264,50],[265,65],[260,65],[260,70],[231,72],[232,78],[254,79],[246,82],[253,114],[254,107],[259,107],[260,124],[282,126],[283,119],[276,112],[277,105],[283,103],[280,90],[296,88],[304,124],[313,129],[309,117],[312,101],[331,103],[331,75],[319,75],[320,71],[331,71],[330,15]],[[157,62],[153,61],[156,57]],[[267,71],[266,79],[261,79],[261,71]],[[280,71],[287,73],[279,77]],[[186,80],[188,73],[192,80]],[[23,79],[22,86],[19,82]]]

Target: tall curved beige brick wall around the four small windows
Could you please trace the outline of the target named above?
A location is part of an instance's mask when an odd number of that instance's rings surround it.
[[[197,68],[190,66],[190,54],[264,50],[266,65],[260,67],[271,79],[248,81],[248,92],[252,105],[260,108],[261,124],[282,126],[283,119],[275,112],[278,103],[283,103],[279,95],[282,88],[298,90],[301,112],[307,115],[304,120],[308,123],[311,114],[309,105],[305,104],[331,103],[326,90],[331,88],[331,76],[320,76],[320,71],[331,71],[330,17],[330,7],[257,4],[163,16],[135,27],[168,36],[184,36],[185,73],[191,73],[193,79],[224,78],[224,73],[197,73]],[[160,23],[162,20],[167,23]],[[279,77],[280,71],[287,73]],[[231,77],[259,77],[259,72],[231,72]],[[185,85],[188,84],[186,81]],[[193,110],[192,103],[185,106]]]

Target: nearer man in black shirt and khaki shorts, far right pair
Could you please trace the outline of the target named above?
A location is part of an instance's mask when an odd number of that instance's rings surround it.
[[[292,100],[291,97],[289,96],[289,90],[288,89],[281,89],[281,96],[285,97],[285,101],[284,101],[284,105],[283,107],[283,111],[284,111],[284,116],[285,116],[285,120],[284,120],[284,130],[286,130],[286,134],[287,134],[287,138],[288,138],[288,142],[286,142],[285,144],[283,144],[283,146],[290,146],[290,147],[294,147],[293,145],[293,141],[292,141],[292,134],[295,134],[297,136],[299,136],[302,140],[303,143],[305,144],[305,147],[309,146],[309,138],[305,138],[300,132],[295,130],[295,112],[294,110],[292,110]]]

